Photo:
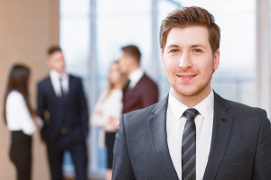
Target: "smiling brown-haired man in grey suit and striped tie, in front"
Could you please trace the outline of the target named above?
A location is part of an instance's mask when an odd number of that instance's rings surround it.
[[[113,179],[270,179],[266,111],[210,87],[220,65],[214,17],[196,6],[173,11],[161,24],[160,45],[171,90],[160,103],[121,118]]]

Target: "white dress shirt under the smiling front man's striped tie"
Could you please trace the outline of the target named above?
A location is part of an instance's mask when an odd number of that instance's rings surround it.
[[[200,114],[195,118],[196,123],[196,179],[203,179],[210,154],[210,142],[213,126],[213,104],[214,94],[210,94],[195,107]],[[182,115],[188,109],[186,105],[179,102],[170,92],[166,114],[166,132],[170,156],[173,166],[182,180],[182,132],[185,117]]]

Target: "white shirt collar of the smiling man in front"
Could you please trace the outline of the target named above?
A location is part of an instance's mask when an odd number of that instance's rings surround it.
[[[185,112],[189,107],[187,107],[185,104],[178,101],[172,94],[172,90],[170,90],[170,94],[168,97],[168,104],[173,112],[173,116],[176,120],[180,120],[182,117],[183,112]],[[210,94],[201,101],[201,103],[198,103],[193,108],[198,110],[200,112],[201,116],[203,116],[204,119],[209,119],[209,114],[213,110],[213,104],[214,104],[214,94],[213,91],[210,91]]]

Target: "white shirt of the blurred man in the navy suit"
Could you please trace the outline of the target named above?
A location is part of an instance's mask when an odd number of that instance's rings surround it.
[[[61,85],[65,94],[69,93],[69,76],[66,73],[59,74],[55,70],[50,71],[51,84],[55,94],[61,96]],[[61,79],[61,80],[60,80]]]

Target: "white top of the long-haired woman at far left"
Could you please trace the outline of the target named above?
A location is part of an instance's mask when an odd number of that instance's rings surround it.
[[[36,130],[23,94],[12,91],[6,99],[6,121],[8,130],[23,130],[24,134],[32,135]]]

